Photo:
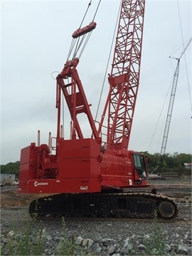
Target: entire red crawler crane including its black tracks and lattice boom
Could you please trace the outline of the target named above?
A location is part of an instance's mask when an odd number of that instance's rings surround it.
[[[56,194],[38,199],[38,203],[33,201],[29,208],[31,215],[149,218],[157,210],[162,218],[176,217],[177,208],[171,198],[139,192],[139,188],[147,186],[146,158],[127,149],[139,87],[144,4],[144,0],[122,1],[110,90],[98,129],[76,69],[79,59],[68,60],[58,75],[56,146],[40,145],[38,139],[38,146],[31,143],[21,149],[19,191]],[[92,22],[79,28],[73,38],[95,27]],[[62,93],[71,116],[70,139],[63,138],[60,126]],[[107,110],[107,134],[103,134]],[[78,119],[82,113],[90,124],[90,138],[82,133]],[[130,193],[129,188],[137,191]]]

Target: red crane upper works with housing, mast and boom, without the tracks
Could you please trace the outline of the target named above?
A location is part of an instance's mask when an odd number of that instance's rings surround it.
[[[21,150],[21,193],[91,193],[109,188],[146,186],[146,159],[142,154],[127,150],[139,87],[143,20],[144,1],[122,1],[109,77],[110,90],[98,129],[76,69],[78,58],[65,63],[57,77],[55,150],[52,145],[36,146],[35,143]],[[73,35],[82,36],[95,26],[96,23],[90,23]],[[69,78],[70,82],[66,83]],[[60,129],[62,93],[72,120],[70,139],[64,139]],[[104,141],[102,127],[107,110],[107,139]],[[82,134],[78,121],[81,113],[87,115],[91,138]]]

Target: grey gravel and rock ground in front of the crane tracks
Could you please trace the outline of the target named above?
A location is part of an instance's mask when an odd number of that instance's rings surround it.
[[[170,221],[34,221],[26,206],[3,206],[1,255],[192,255],[191,202],[178,205],[178,218]],[[32,245],[41,252],[34,252]]]

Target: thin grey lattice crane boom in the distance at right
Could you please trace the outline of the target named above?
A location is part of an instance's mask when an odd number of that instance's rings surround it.
[[[163,137],[163,141],[162,141],[162,144],[161,144],[161,153],[160,153],[160,156],[159,156],[159,165],[158,166],[160,168],[161,168],[161,166],[163,164],[163,161],[164,161],[164,154],[165,154],[165,151],[166,151],[166,144],[167,144],[167,139],[168,139],[168,135],[169,135],[169,128],[170,128],[170,124],[171,124],[171,116],[172,116],[172,112],[173,112],[174,100],[175,100],[175,95],[176,95],[176,87],[177,87],[177,83],[178,83],[178,73],[179,73],[180,60],[181,60],[181,57],[183,56],[183,54],[186,52],[186,49],[190,45],[191,41],[192,41],[192,38],[188,41],[188,43],[187,43],[186,47],[183,49],[183,52],[181,53],[180,57],[176,58],[177,65],[176,65],[176,70],[175,70],[175,73],[174,73],[174,80],[173,80],[172,89],[171,89],[169,107],[168,107],[168,112],[167,112],[167,115],[166,115],[166,124],[165,124],[165,128],[164,128],[164,137]]]

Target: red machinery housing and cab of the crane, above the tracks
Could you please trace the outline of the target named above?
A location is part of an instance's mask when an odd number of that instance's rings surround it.
[[[21,150],[22,193],[90,193],[145,186],[144,156],[127,150],[105,150],[95,139],[60,139],[58,155],[46,144]]]

